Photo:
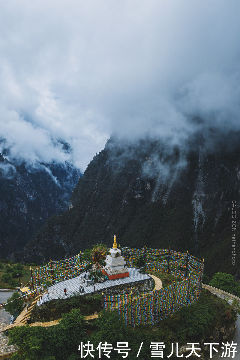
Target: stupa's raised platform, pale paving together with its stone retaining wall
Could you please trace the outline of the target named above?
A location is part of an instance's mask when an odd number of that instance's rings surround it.
[[[45,301],[65,299],[72,297],[74,293],[79,292],[79,287],[84,287],[84,292],[79,293],[79,296],[90,295],[95,293],[104,295],[122,295],[131,292],[151,291],[153,288],[153,278],[148,274],[141,274],[139,269],[134,267],[126,268],[129,276],[121,279],[105,280],[103,283],[85,286],[81,281],[81,274],[74,278],[59,281],[56,284],[50,285],[47,289],[47,297]],[[67,289],[67,296],[65,296],[64,288]],[[38,305],[41,305],[41,299]]]

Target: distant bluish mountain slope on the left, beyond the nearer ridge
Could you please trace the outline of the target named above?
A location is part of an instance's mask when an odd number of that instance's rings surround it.
[[[0,258],[22,250],[51,215],[67,208],[78,177],[67,163],[27,170],[0,154]]]

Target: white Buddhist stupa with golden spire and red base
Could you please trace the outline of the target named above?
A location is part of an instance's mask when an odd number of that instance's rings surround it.
[[[109,250],[109,255],[106,257],[105,263],[107,265],[103,266],[102,272],[108,275],[109,280],[129,276],[128,269],[124,267],[126,262],[123,256],[121,256],[121,250],[117,247],[116,235],[114,235],[113,247]]]

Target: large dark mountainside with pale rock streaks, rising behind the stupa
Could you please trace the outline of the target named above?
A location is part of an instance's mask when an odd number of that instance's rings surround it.
[[[71,257],[93,243],[111,247],[116,233],[121,246],[188,250],[204,258],[208,275],[235,275],[232,202],[239,209],[239,155],[237,147],[207,154],[195,146],[181,153],[158,141],[110,139],[79,179],[69,210],[46,222],[23,257],[43,262]]]

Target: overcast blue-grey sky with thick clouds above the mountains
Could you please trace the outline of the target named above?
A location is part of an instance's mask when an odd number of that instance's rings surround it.
[[[112,133],[239,131],[239,14],[239,0],[1,1],[0,152],[62,162],[63,139],[84,171]]]

